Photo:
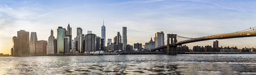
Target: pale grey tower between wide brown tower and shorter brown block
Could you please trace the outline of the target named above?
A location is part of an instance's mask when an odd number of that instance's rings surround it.
[[[37,41],[37,32],[31,32],[29,41],[30,54],[35,54],[35,41]]]

